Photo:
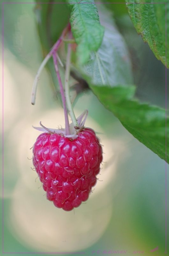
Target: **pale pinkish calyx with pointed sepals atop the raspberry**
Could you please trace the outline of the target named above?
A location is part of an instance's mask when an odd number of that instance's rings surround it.
[[[78,137],[78,133],[80,131],[82,131],[82,129],[84,128],[85,125],[85,121],[87,119],[87,115],[88,115],[88,110],[86,109],[80,116],[77,117],[77,124],[78,127],[74,127],[73,123],[69,124],[69,128],[70,128],[70,134],[67,135],[66,134],[66,129],[65,128],[61,128],[61,129],[52,129],[52,128],[47,128],[44,125],[41,124],[40,121],[40,126],[41,127],[35,127],[33,126],[34,129],[41,131],[41,132],[49,132],[50,134],[60,134],[63,135],[66,138],[69,138],[71,140],[75,140]]]

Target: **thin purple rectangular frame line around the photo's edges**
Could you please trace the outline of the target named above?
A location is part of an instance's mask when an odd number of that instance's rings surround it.
[[[72,4],[90,4],[87,2]],[[102,4],[103,2],[95,2],[95,4]],[[3,2],[2,3],[2,253],[6,254],[85,254],[86,252],[4,252],[4,4],[36,4],[33,2]],[[62,2],[39,2],[38,4],[67,4]],[[92,3],[91,3],[92,4]],[[132,3],[109,3],[104,4],[132,4]],[[134,4],[134,3],[133,3]],[[136,3],[135,3],[136,4]],[[167,2],[155,3],[138,3],[138,4],[165,4],[165,253],[167,253]]]

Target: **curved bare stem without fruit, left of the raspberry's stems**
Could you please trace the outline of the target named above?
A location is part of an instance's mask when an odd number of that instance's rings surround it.
[[[67,31],[70,30],[70,23],[68,24],[68,26],[63,30],[62,35],[60,36],[60,38],[57,40],[57,42],[54,44],[54,46],[52,47],[51,51],[47,54],[47,56],[45,57],[45,59],[42,61],[38,72],[35,76],[35,80],[33,83],[33,89],[32,89],[32,97],[31,97],[31,103],[32,105],[35,105],[35,100],[36,100],[36,91],[37,91],[37,86],[38,86],[38,81],[39,81],[39,76],[43,70],[43,68],[45,67],[46,63],[48,62],[48,60],[50,59],[50,57],[52,56],[52,54],[54,52],[57,52],[60,44],[62,43],[63,37],[65,36],[65,34],[67,33]]]

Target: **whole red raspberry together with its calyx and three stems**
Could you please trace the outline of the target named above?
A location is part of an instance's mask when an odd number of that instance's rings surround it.
[[[46,191],[49,201],[57,208],[71,211],[86,201],[97,182],[97,174],[102,162],[102,147],[99,138],[91,128],[86,128],[85,120],[88,111],[76,118],[69,89],[71,44],[68,44],[65,83],[62,85],[59,73],[57,51],[64,36],[68,34],[71,42],[70,25],[64,29],[52,50],[43,60],[33,85],[32,104],[35,104],[37,81],[42,68],[53,56],[55,71],[60,86],[60,93],[65,117],[65,129],[50,129],[43,126],[34,127],[41,133],[33,146],[33,165]],[[68,112],[72,123],[69,124]]]

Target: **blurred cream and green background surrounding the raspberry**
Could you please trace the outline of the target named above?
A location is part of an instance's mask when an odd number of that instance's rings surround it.
[[[47,69],[40,76],[36,105],[30,103],[33,80],[43,59],[36,9],[33,1],[10,2],[4,4],[4,252],[163,255],[165,161],[126,131],[90,90],[78,95],[75,113],[89,110],[86,126],[98,132],[104,145],[99,181],[89,200],[75,211],[63,212],[46,199],[29,160],[39,135],[32,125],[42,121],[48,127],[64,126],[63,110]],[[114,11],[128,44],[137,97],[165,107],[165,67],[137,35],[125,5],[106,5]],[[2,58],[0,65],[2,70]],[[2,203],[2,190],[0,196]],[[169,208],[167,212],[169,217]],[[150,252],[157,246],[156,252]]]

